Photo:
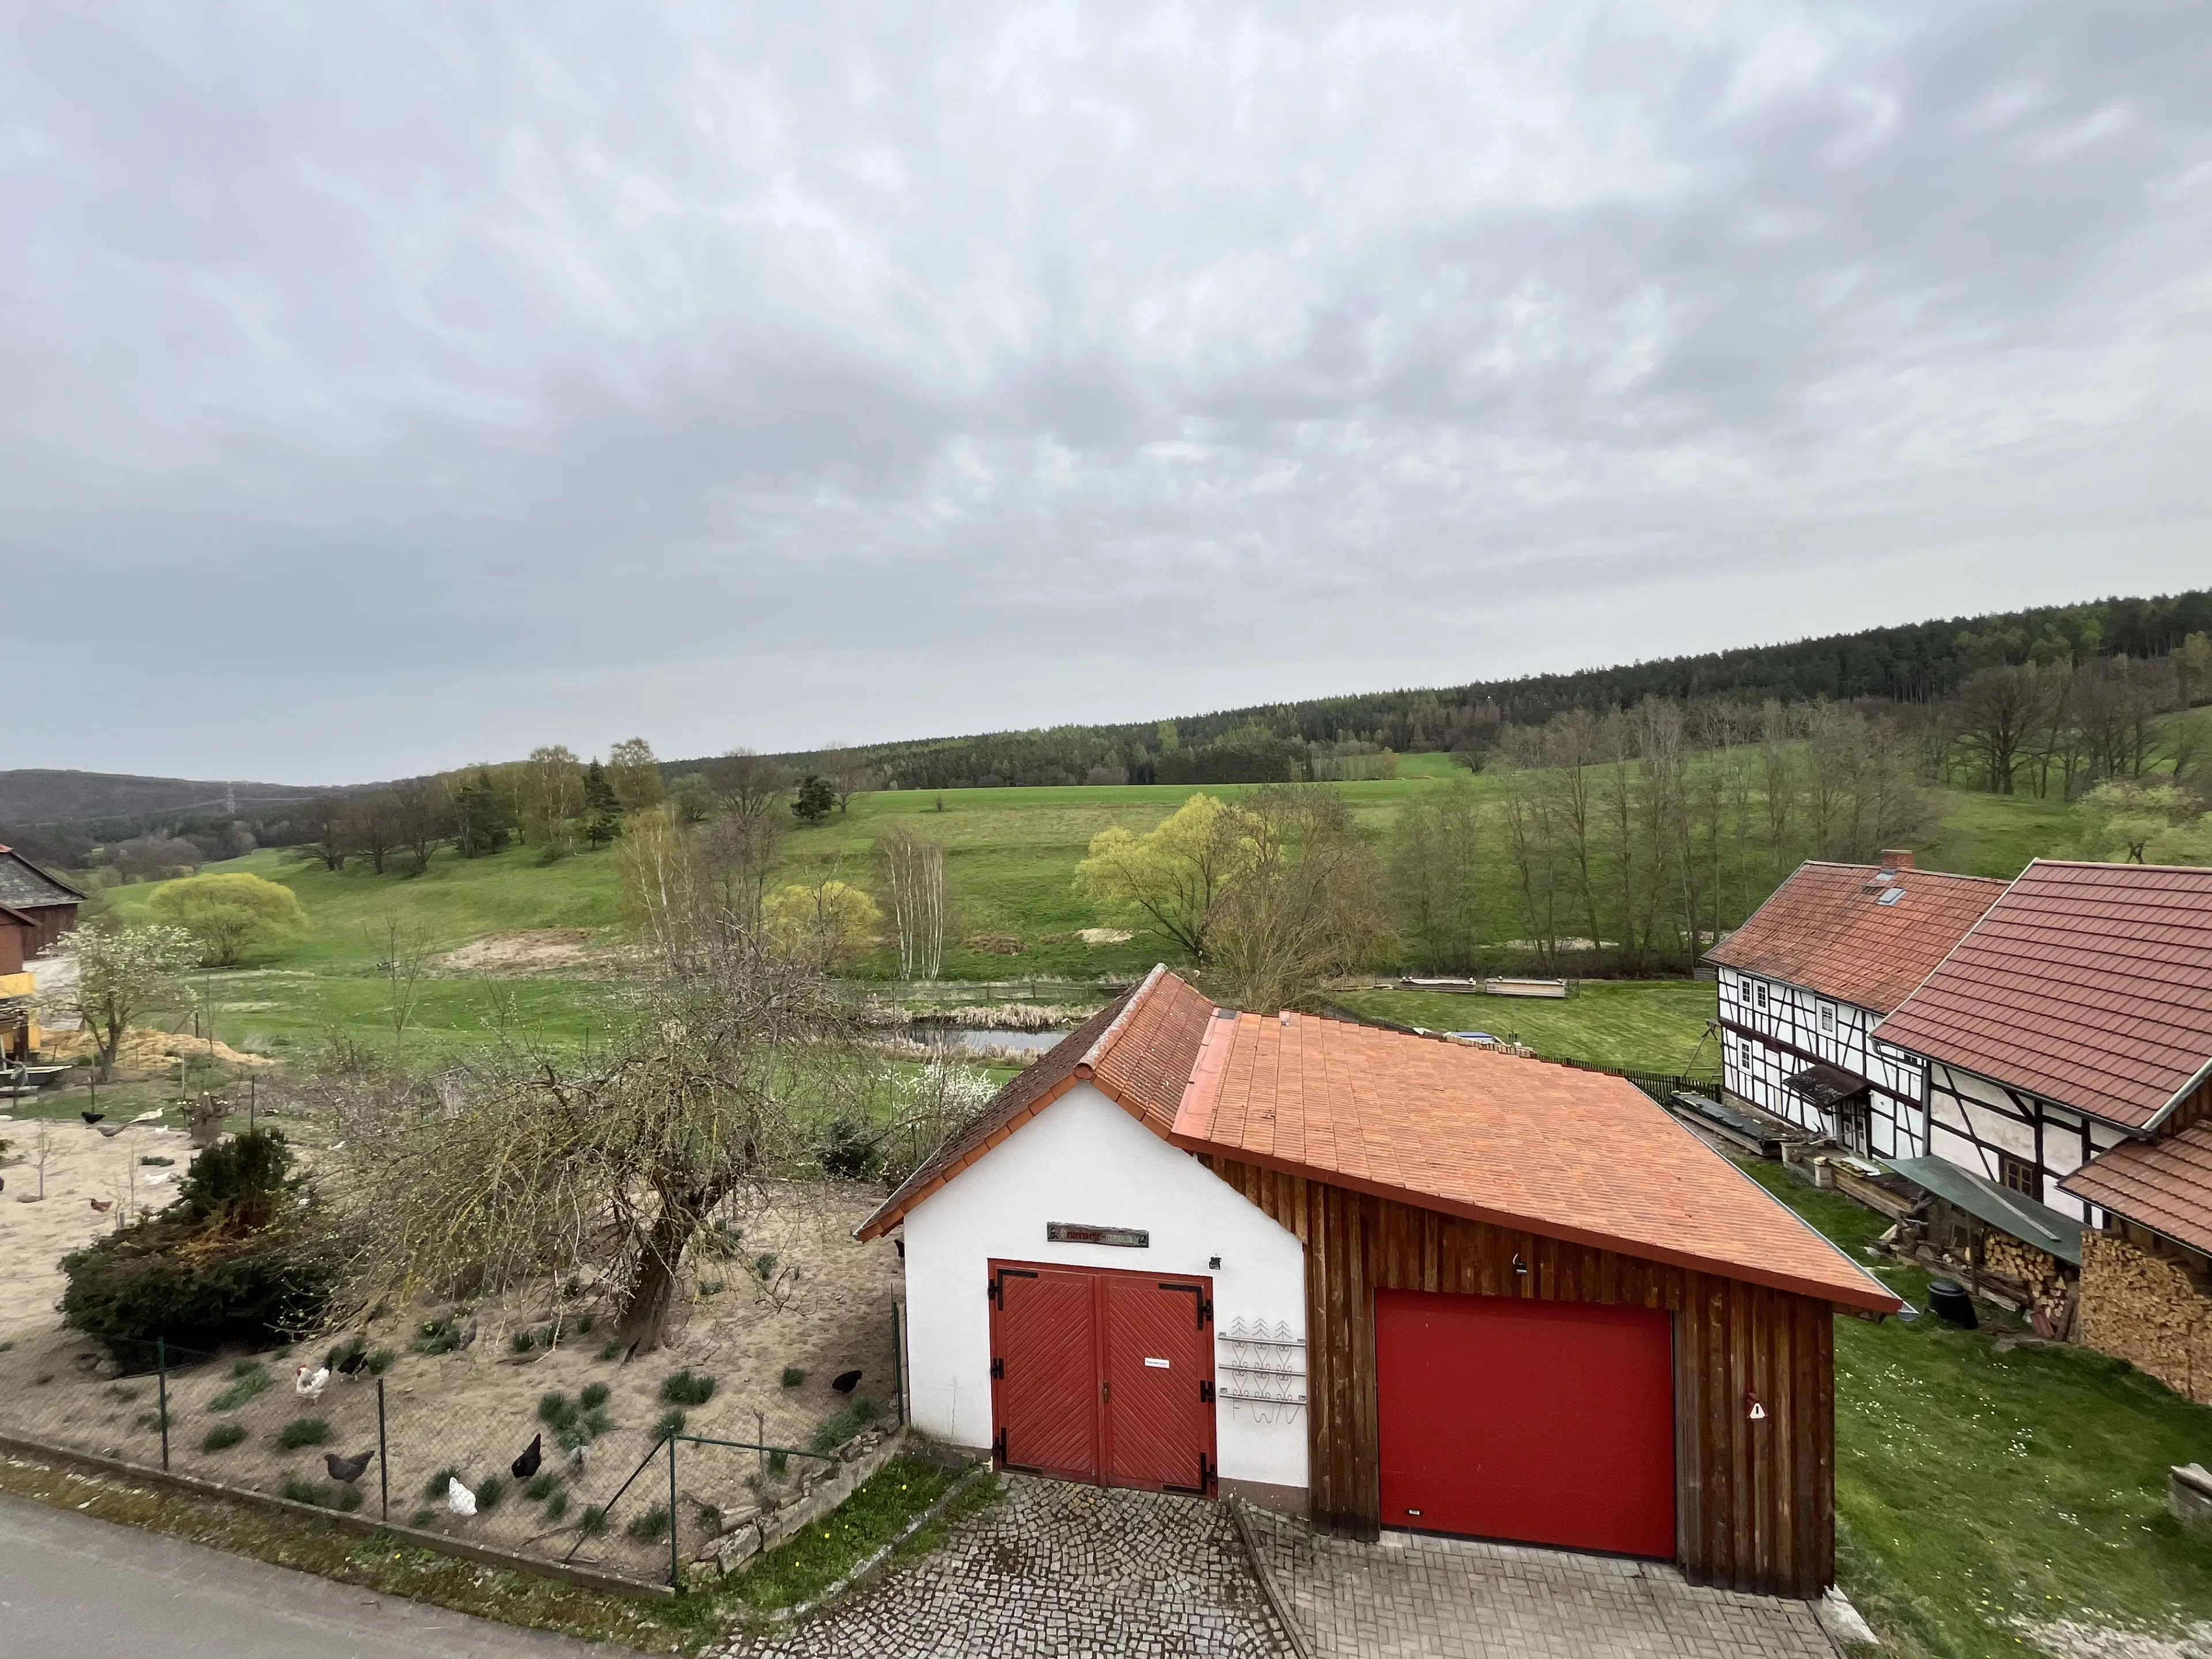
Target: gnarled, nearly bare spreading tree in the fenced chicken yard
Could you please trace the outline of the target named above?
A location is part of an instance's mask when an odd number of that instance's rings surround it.
[[[593,1272],[644,1354],[686,1259],[818,1172],[880,1068],[834,982],[730,916],[695,922],[586,1060],[502,1048],[431,1084],[352,1055],[319,1079],[354,1243],[338,1318]]]

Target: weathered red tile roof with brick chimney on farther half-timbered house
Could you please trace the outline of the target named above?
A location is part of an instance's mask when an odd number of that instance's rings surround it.
[[[1708,962],[1893,1013],[2004,894],[2002,880],[1880,865],[1798,865]],[[1871,891],[1869,891],[1871,887]],[[1885,891],[1905,898],[1882,905]]]

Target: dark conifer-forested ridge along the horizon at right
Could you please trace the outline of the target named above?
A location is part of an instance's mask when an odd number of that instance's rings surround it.
[[[1128,781],[1219,783],[1290,776],[1292,745],[1374,743],[1398,752],[1482,748],[1506,723],[1540,723],[1566,708],[1624,708],[1646,697],[1743,701],[1880,697],[1931,703],[1978,668],[2024,661],[2161,657],[2192,633],[2212,630],[2212,591],[2154,599],[2004,611],[1947,622],[1798,639],[1781,646],[1661,657],[1573,675],[1528,675],[1436,690],[1316,697],[1298,703],[1228,708],[1172,721],[1060,726],[905,743],[863,754],[900,787],[975,783]],[[779,757],[796,770],[823,757]],[[670,770],[712,761],[681,761]],[[1099,776],[1093,776],[1099,774]]]

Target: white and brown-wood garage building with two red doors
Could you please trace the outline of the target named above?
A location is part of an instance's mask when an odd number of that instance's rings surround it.
[[[1009,1469],[1834,1579],[1832,1314],[1898,1301],[1604,1073],[1166,969],[863,1225],[911,1418]]]

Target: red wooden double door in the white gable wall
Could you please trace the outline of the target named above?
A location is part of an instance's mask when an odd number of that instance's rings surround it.
[[[1004,1469],[1214,1491],[1210,1279],[993,1261],[989,1294]]]

